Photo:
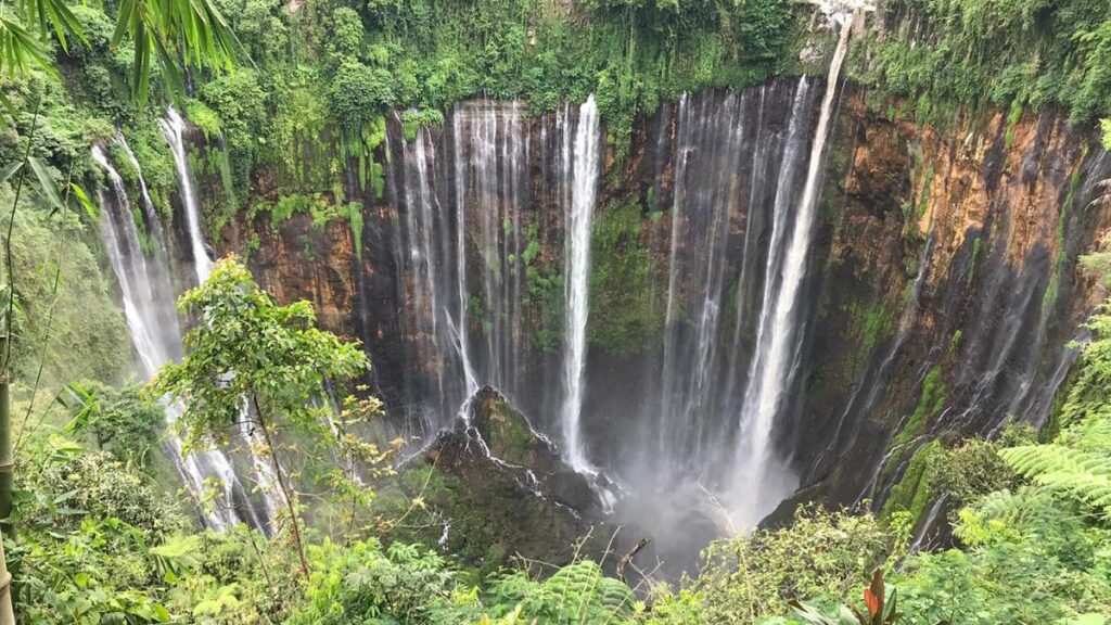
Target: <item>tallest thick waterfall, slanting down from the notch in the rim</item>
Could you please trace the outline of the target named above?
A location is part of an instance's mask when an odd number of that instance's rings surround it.
[[[800,338],[797,315],[799,295],[815,221],[822,157],[833,115],[838,76],[848,50],[853,23],[851,17],[841,21],[841,34],[830,61],[825,95],[822,98],[818,128],[811,142],[805,183],[797,214],[790,224],[788,238],[775,235],[775,231],[782,231],[788,226],[785,218],[781,219],[778,211],[775,215],[772,249],[784,244],[785,249],[781,259],[778,259],[775,254],[770,254],[768,259],[760,329],[755,357],[751,365],[751,381],[744,393],[740,448],[734,469],[737,479],[733,488],[734,505],[744,526],[752,526],[759,522],[798,485],[798,477],[777,457],[772,431],[783,397],[792,388],[797,365]],[[779,285],[773,289],[777,276]]]

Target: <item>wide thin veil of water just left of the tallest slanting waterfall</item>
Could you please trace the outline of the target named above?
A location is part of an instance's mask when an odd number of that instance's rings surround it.
[[[670,149],[657,140],[673,197],[662,358],[649,374],[659,393],[643,399],[652,420],[634,453],[641,488],[728,487],[721,467],[734,463],[759,298],[778,286],[765,270],[783,256],[779,239],[802,182],[811,92],[792,81],[684,95]],[[665,180],[667,168],[657,167]],[[689,495],[704,499],[705,492]]]

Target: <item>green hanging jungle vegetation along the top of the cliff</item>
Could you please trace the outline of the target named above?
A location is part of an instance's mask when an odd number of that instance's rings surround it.
[[[462,98],[520,98],[536,110],[593,93],[620,157],[632,122],[683,91],[743,87],[824,71],[827,31],[787,0],[220,0],[240,62],[189,75],[178,107],[213,149],[197,165],[223,180],[210,207],[217,234],[240,211],[331,205],[343,217],[361,189],[381,194],[376,150],[386,120],[437,123]],[[9,77],[17,129],[43,117],[34,151],[74,180],[96,177],[87,147],[123,129],[154,201],[169,214],[172,163],[160,150],[161,105],[129,98],[134,47],[112,46],[114,7],[77,6],[84,40],[58,49],[66,88]],[[1078,123],[1111,109],[1111,9],[1097,0],[885,2],[853,46],[848,71],[900,108],[945,123],[988,106],[1061,107]],[[217,69],[220,65],[214,66]],[[167,82],[152,68],[152,89]],[[880,105],[887,108],[888,103]],[[394,112],[397,111],[397,112]],[[12,137],[9,137],[11,139]],[[18,142],[0,150],[10,160]],[[118,150],[118,147],[112,147]],[[357,171],[348,177],[349,158]],[[134,176],[134,172],[123,172]],[[298,208],[299,207],[299,208]]]

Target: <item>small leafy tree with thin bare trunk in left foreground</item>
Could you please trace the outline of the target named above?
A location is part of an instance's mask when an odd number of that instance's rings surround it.
[[[358,344],[313,327],[317,317],[308,301],[276,304],[236,257],[217,262],[203,285],[181,296],[178,308],[196,312],[200,323],[186,334],[187,356],[162,367],[151,386],[186,406],[177,427],[187,449],[227,443],[236,424],[249,419],[289,510],[301,573],[308,573],[297,494],[282,470],[274,435],[293,429],[322,440],[333,437],[312,400],[326,394],[327,380],[363,373],[367,356]],[[244,399],[253,408],[249,416]]]

